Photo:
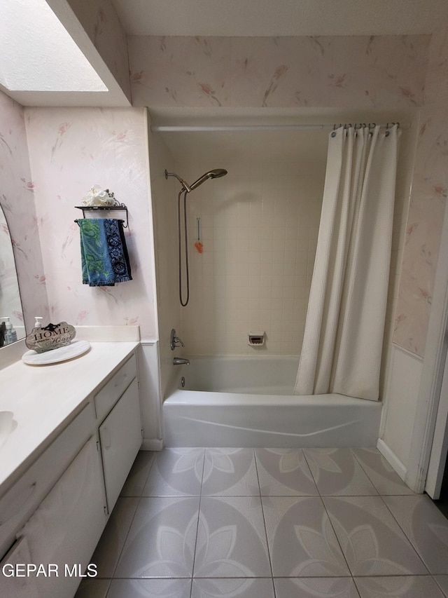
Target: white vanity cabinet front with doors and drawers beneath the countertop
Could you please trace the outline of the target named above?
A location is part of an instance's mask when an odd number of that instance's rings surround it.
[[[76,416],[66,418],[45,449],[36,449],[15,483],[6,491],[0,486],[1,598],[71,598],[86,576],[142,441],[137,358],[134,350],[124,355],[113,373],[92,381]],[[92,370],[96,364],[92,355]],[[8,573],[15,564],[42,572],[2,574],[3,566]]]

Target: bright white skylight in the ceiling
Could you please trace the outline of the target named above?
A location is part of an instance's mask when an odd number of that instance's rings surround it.
[[[45,0],[1,0],[0,83],[10,91],[107,91]]]

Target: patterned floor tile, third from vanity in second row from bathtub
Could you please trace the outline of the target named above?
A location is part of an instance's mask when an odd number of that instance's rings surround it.
[[[203,497],[195,578],[271,575],[260,497]]]

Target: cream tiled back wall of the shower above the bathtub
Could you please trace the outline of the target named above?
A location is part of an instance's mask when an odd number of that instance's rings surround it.
[[[313,163],[202,163],[226,168],[188,195],[188,354],[298,355],[321,212],[326,153]],[[188,180],[197,164],[179,165]],[[200,218],[202,254],[195,249]],[[262,348],[248,332],[265,332]]]

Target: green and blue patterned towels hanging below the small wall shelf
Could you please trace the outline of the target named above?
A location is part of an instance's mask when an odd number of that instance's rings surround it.
[[[83,218],[78,219],[78,224],[83,285],[113,287],[132,280],[123,222],[115,218]]]

